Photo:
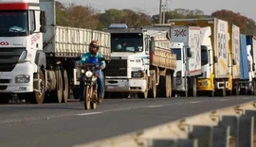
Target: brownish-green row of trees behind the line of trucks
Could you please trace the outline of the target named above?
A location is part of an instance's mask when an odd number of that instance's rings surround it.
[[[90,29],[106,28],[109,24],[127,24],[129,27],[157,24],[159,15],[149,16],[146,13],[132,9],[106,9],[103,13],[90,6],[77,6],[70,4],[67,7],[56,2],[56,23],[58,25],[82,27]],[[176,8],[165,13],[165,22],[168,19],[206,18],[216,17],[230,24],[236,24],[241,28],[241,33],[256,35],[256,24],[252,19],[235,13],[231,10],[221,9],[206,15],[200,9]]]

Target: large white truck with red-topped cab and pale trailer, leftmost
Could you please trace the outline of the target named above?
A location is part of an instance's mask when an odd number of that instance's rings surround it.
[[[56,25],[54,0],[0,1],[0,103],[16,94],[33,104],[78,95],[77,60],[98,40],[110,58],[110,34]],[[5,23],[3,23],[5,22]]]

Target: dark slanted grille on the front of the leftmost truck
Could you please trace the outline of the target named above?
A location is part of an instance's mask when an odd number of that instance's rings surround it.
[[[25,48],[0,48],[0,72],[11,72]]]

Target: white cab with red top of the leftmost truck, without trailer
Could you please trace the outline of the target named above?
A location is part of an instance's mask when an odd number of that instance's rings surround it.
[[[44,18],[39,0],[0,0],[0,102],[9,101],[11,93],[35,91]]]

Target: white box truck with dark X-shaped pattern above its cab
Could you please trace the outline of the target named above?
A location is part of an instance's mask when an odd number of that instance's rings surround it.
[[[196,77],[202,73],[200,27],[172,26],[171,24],[154,24],[146,27],[167,30],[171,34],[171,51],[176,55],[174,95],[196,96]]]

